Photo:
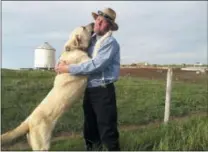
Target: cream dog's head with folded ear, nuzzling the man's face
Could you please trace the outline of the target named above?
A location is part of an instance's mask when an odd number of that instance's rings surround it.
[[[94,23],[74,29],[65,44],[65,51],[86,50],[90,44]]]

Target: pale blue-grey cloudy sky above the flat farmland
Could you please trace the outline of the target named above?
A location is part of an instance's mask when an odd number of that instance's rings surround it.
[[[207,1],[3,1],[2,68],[33,68],[44,42],[57,60],[70,32],[107,7],[117,14],[121,64],[207,64]]]

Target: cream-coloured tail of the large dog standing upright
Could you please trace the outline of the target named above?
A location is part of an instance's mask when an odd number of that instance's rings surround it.
[[[26,134],[29,130],[29,125],[27,121],[22,122],[15,129],[8,131],[1,135],[1,144],[5,144],[11,142],[12,140]]]

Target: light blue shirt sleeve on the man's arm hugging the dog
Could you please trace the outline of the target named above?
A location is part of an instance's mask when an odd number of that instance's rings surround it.
[[[116,41],[109,41],[98,50],[97,56],[94,59],[81,64],[69,65],[69,73],[72,75],[89,75],[100,72],[111,63],[115,53],[118,51],[119,45]]]

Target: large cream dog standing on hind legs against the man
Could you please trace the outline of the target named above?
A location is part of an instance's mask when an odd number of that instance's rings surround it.
[[[65,51],[60,56],[60,64],[62,62],[79,64],[90,59],[86,50],[92,31],[93,23],[73,30],[65,44]],[[110,35],[111,32],[108,32],[96,43],[94,54],[102,41]],[[18,127],[1,135],[1,143],[8,143],[27,134],[32,150],[49,150],[52,131],[57,120],[82,96],[86,84],[87,76],[73,76],[69,73],[56,75],[53,88],[47,96]]]

